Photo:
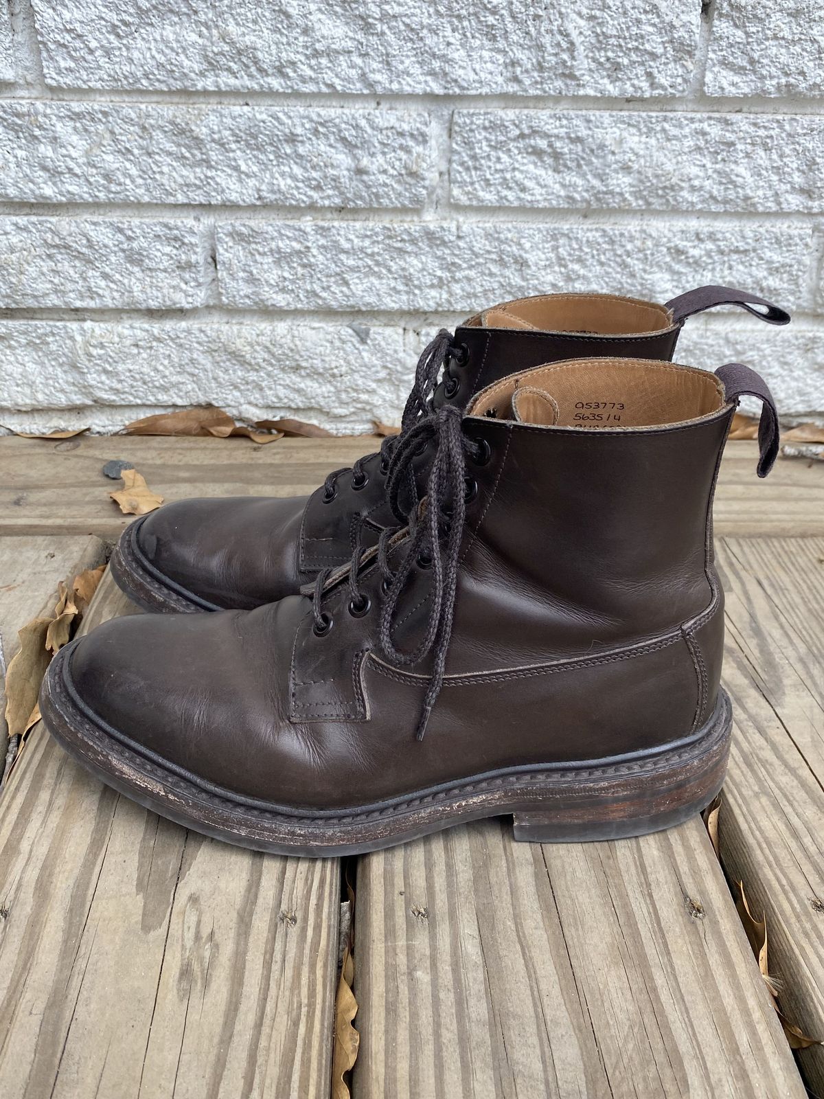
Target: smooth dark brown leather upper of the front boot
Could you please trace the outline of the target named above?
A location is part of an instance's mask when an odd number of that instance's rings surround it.
[[[683,373],[659,365],[649,385],[682,393]],[[467,466],[477,488],[446,679],[420,742],[431,662],[383,655],[375,559],[359,577],[363,617],[346,577],[330,579],[323,636],[304,595],[105,623],[71,651],[76,697],[113,735],[198,780],[318,811],[688,736],[714,704],[723,641],[710,515],[734,406],[717,406],[613,430],[465,418],[488,457],[482,447]],[[483,395],[476,408],[489,410]],[[432,585],[422,563],[403,590],[393,637],[404,650]]]

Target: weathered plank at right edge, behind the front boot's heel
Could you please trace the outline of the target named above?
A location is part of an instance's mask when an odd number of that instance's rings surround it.
[[[719,562],[736,725],[722,859],[767,912],[784,1014],[824,1039],[824,540],[724,540]],[[824,1095],[824,1047],[799,1058]]]

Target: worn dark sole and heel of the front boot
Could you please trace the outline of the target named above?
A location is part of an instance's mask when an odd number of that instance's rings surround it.
[[[60,650],[41,690],[55,739],[121,793],[204,835],[278,855],[326,857],[391,847],[487,817],[513,819],[515,840],[568,843],[644,835],[680,824],[713,800],[730,753],[732,707],[724,690],[706,724],[654,754],[586,766],[547,764],[469,776],[448,786],[346,810],[299,810],[216,790],[148,758],[107,731],[73,698],[74,645]],[[410,752],[414,744],[410,743]]]

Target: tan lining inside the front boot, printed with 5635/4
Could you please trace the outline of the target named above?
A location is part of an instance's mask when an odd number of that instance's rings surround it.
[[[537,400],[535,391],[545,399]],[[717,412],[725,403],[724,387],[706,370],[649,359],[578,358],[537,366],[489,386],[468,414],[603,430],[683,423]]]

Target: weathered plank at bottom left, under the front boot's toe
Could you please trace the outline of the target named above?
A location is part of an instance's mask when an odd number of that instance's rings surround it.
[[[130,611],[107,577],[87,629]],[[0,802],[0,1095],[326,1099],[337,863],[188,833],[32,735]]]

